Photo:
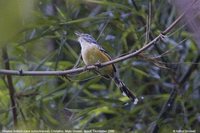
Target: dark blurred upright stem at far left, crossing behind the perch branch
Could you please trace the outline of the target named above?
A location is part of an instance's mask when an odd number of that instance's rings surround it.
[[[2,53],[3,53],[2,58],[3,58],[4,64],[5,64],[5,68],[9,70],[10,64],[9,64],[9,58],[8,58],[6,46],[2,49]],[[16,109],[16,102],[15,102],[15,88],[13,85],[11,75],[7,75],[6,78],[7,78],[7,82],[8,82],[8,90],[9,90],[9,95],[10,95],[10,100],[11,100],[11,108],[12,108],[14,126],[17,126],[17,109]]]

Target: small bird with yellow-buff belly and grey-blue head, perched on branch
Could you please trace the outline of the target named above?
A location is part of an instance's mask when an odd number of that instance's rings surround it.
[[[103,63],[111,60],[108,53],[97,43],[97,41],[89,34],[75,32],[78,36],[78,42],[81,45],[81,56],[83,62],[86,65],[94,65],[97,63]],[[116,74],[116,68],[114,64],[95,70],[98,74],[105,78],[112,79],[121,92],[128,96],[134,104],[137,104],[137,97],[125,86],[125,84],[119,79]]]

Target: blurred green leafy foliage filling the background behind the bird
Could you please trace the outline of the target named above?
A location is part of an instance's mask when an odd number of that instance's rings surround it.
[[[135,5],[136,4],[136,5]],[[80,46],[75,31],[93,35],[113,57],[135,51],[176,18],[166,0],[0,0],[0,49],[13,70],[71,69]],[[14,126],[8,82],[0,75],[1,129],[114,129],[148,132],[170,91],[179,86],[198,48],[180,23],[142,54],[116,64],[121,79],[140,99],[133,105],[112,81],[93,72],[58,76],[12,76],[17,109]],[[2,50],[0,52],[2,55]],[[0,69],[5,69],[0,59]],[[79,66],[84,66],[80,62]],[[199,130],[199,67],[178,87],[160,132]]]

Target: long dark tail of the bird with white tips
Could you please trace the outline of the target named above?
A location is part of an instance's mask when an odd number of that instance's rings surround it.
[[[123,95],[125,94],[127,97],[129,97],[134,104],[138,103],[137,97],[125,86],[125,84],[117,76],[115,76],[113,80],[117,87],[121,90]]]

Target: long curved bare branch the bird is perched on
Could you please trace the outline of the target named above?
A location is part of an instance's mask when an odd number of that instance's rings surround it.
[[[114,64],[120,61],[124,61],[127,60],[129,58],[132,58],[140,53],[142,53],[143,51],[145,51],[146,49],[148,49],[150,46],[154,45],[156,41],[158,41],[159,39],[163,38],[164,35],[166,35],[168,32],[170,32],[172,30],[172,27],[174,27],[175,25],[177,25],[177,23],[181,20],[181,18],[183,18],[185,12],[180,15],[166,30],[164,30],[164,32],[160,33],[156,38],[154,38],[152,41],[150,41],[148,44],[144,45],[142,48],[140,48],[139,50],[132,52],[128,55],[125,56],[121,56],[118,57],[116,59],[113,59],[111,61],[108,62],[104,62],[104,63],[98,63],[97,65],[91,65],[91,66],[87,66],[87,67],[80,67],[80,68],[76,68],[76,69],[70,69],[70,70],[65,70],[65,71],[23,71],[23,70],[3,70],[0,69],[0,74],[4,74],[4,75],[18,75],[18,76],[55,76],[55,75],[66,75],[66,74],[75,74],[75,73],[80,73],[86,70],[93,70],[96,69],[96,67],[105,67],[107,65],[110,64]]]

